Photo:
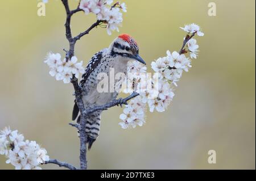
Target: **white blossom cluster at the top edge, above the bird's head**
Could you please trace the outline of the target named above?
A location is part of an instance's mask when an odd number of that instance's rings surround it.
[[[126,12],[125,3],[114,3],[113,0],[81,0],[79,8],[89,14],[92,12],[96,14],[97,20],[103,21],[106,23],[106,29],[109,35],[112,34],[112,31],[119,31],[118,26],[121,25],[122,10]]]

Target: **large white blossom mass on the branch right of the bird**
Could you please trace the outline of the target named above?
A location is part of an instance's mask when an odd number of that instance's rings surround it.
[[[129,63],[127,72],[137,73],[137,76],[132,79],[126,78],[126,81],[132,82],[130,85],[133,85],[133,87],[128,86],[129,91],[125,90],[124,92],[136,91],[139,96],[131,100],[120,115],[122,122],[119,125],[123,129],[135,128],[136,125],[142,126],[145,123],[144,110],[146,110],[146,104],[150,112],[154,112],[154,110],[164,112],[174,98],[173,87],[177,86],[183,71],[187,72],[192,67],[191,60],[185,56],[185,53],[189,52],[190,58],[197,57],[199,45],[197,45],[196,39],[192,39],[192,36],[195,34],[204,36],[204,33],[201,32],[197,24],[189,24],[181,29],[187,32],[187,36],[184,38],[184,41],[187,42],[184,49],[181,50],[181,53],[167,50],[165,57],[152,61],[151,68],[155,72],[152,78],[142,79],[146,68],[138,61]]]

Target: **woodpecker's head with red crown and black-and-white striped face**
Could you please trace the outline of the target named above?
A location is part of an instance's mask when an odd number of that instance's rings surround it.
[[[118,36],[109,47],[115,56],[121,56],[125,60],[137,60],[146,65],[146,62],[139,56],[139,47],[136,41],[127,34]]]

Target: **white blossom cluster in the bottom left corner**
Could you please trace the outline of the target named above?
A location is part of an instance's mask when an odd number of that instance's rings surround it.
[[[41,163],[49,161],[46,149],[40,148],[35,141],[24,140],[17,130],[5,128],[0,132],[0,154],[8,159],[16,170],[41,170]]]

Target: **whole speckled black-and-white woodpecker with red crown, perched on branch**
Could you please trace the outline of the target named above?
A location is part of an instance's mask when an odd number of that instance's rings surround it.
[[[109,46],[94,54],[89,64],[85,68],[85,73],[82,75],[80,86],[82,87],[82,100],[85,108],[102,106],[116,99],[118,92],[98,92],[97,84],[100,80],[97,79],[99,73],[110,74],[110,69],[114,69],[114,74],[124,73],[127,71],[127,62],[129,60],[137,60],[142,64],[146,62],[139,56],[139,48],[136,41],[127,34],[118,36]],[[109,80],[108,80],[109,81]],[[115,83],[118,80],[115,80]],[[102,111],[96,111],[88,115],[86,120],[86,134],[88,136],[88,149],[92,147],[94,141],[100,133]],[[80,123],[79,108],[75,102],[72,113],[72,120]]]

